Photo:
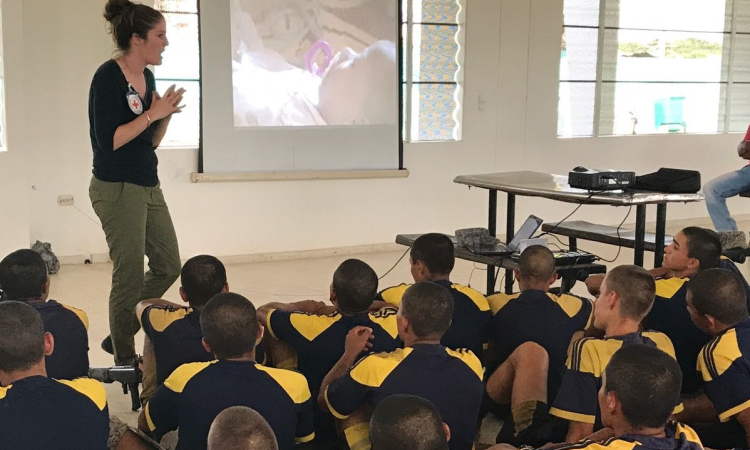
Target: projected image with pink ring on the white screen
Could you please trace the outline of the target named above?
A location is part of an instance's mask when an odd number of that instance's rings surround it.
[[[395,0],[230,0],[236,127],[398,123]]]

